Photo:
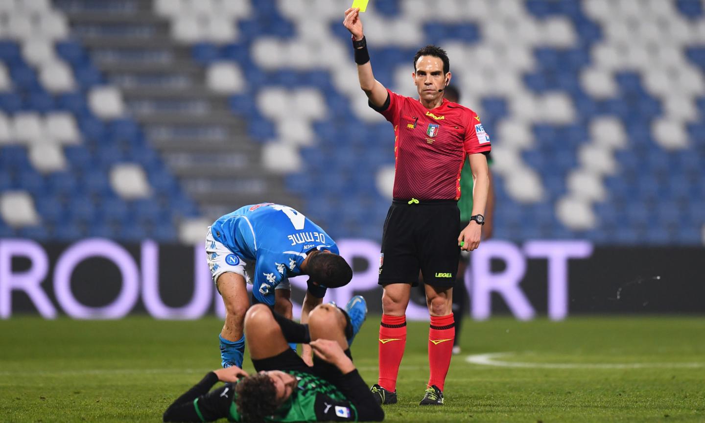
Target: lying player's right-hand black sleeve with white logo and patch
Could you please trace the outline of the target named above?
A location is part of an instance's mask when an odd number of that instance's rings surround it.
[[[348,400],[338,401],[329,396],[317,396],[315,409],[319,422],[381,422],[384,420],[381,405],[374,400],[357,369],[344,374],[338,388]]]

